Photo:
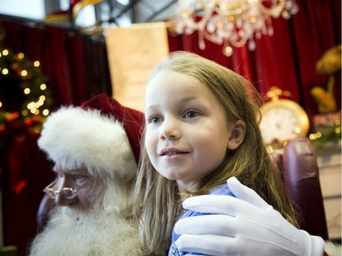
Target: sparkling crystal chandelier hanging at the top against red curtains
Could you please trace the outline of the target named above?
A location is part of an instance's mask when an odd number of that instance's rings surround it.
[[[254,50],[254,38],[272,36],[272,18],[289,19],[297,12],[295,0],[178,0],[172,24],[177,34],[198,31],[201,49],[205,38],[223,45],[223,54],[231,56],[232,46],[248,43]]]

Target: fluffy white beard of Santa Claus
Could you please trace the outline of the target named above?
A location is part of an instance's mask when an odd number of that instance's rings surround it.
[[[59,208],[36,236],[29,255],[141,255],[137,226],[104,211],[80,213]]]

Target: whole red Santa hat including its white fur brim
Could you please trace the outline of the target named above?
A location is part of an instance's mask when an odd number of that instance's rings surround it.
[[[63,169],[85,167],[132,179],[140,157],[144,116],[100,94],[80,107],[62,107],[44,123],[38,146]]]

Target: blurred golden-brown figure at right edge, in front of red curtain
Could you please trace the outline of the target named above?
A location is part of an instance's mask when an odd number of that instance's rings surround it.
[[[317,103],[320,114],[337,110],[337,103],[334,97],[334,75],[339,69],[341,69],[341,45],[327,49],[316,63],[316,71],[319,74],[329,76],[326,90],[322,87],[313,87],[310,91]]]

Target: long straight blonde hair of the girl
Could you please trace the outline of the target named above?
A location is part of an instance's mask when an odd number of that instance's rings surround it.
[[[261,100],[254,87],[232,70],[186,52],[172,53],[155,68],[151,78],[161,70],[195,77],[221,102],[228,121],[243,120],[246,125],[244,142],[200,181],[199,189],[192,195],[207,194],[235,176],[296,224],[282,176],[267,152],[259,129]],[[164,178],[152,167],[144,143],[141,145],[140,171],[134,189],[140,239],[146,255],[164,255],[171,243],[173,224],[181,212],[181,199],[176,181]]]

